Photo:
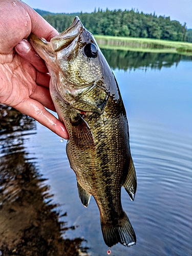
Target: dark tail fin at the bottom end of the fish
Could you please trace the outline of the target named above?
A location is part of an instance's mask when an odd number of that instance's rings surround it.
[[[127,247],[136,244],[136,234],[125,212],[123,212],[123,217],[118,220],[117,224],[103,223],[101,220],[101,229],[104,242],[109,247],[118,242]]]

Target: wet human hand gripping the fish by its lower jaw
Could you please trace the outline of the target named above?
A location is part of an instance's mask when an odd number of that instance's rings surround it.
[[[68,139],[64,124],[45,109],[55,111],[49,92],[50,76],[44,60],[27,40],[30,33],[50,40],[58,32],[19,0],[0,0],[0,13],[0,103]]]

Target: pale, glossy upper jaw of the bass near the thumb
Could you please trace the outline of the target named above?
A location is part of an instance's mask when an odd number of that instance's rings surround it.
[[[58,52],[68,47],[71,42],[83,31],[83,29],[84,27],[79,17],[76,16],[69,28],[51,39],[50,42],[53,51]]]

